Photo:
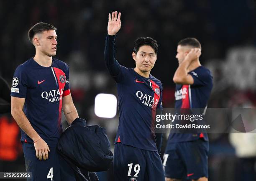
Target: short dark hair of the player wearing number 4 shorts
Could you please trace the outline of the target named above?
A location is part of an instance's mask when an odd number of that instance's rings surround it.
[[[43,23],[43,22],[36,23],[28,31],[29,41],[33,44],[33,37],[35,36],[35,34],[41,33],[43,31],[48,31],[48,30],[55,30],[56,31],[57,28],[55,28],[54,25],[50,25],[50,24]]]

